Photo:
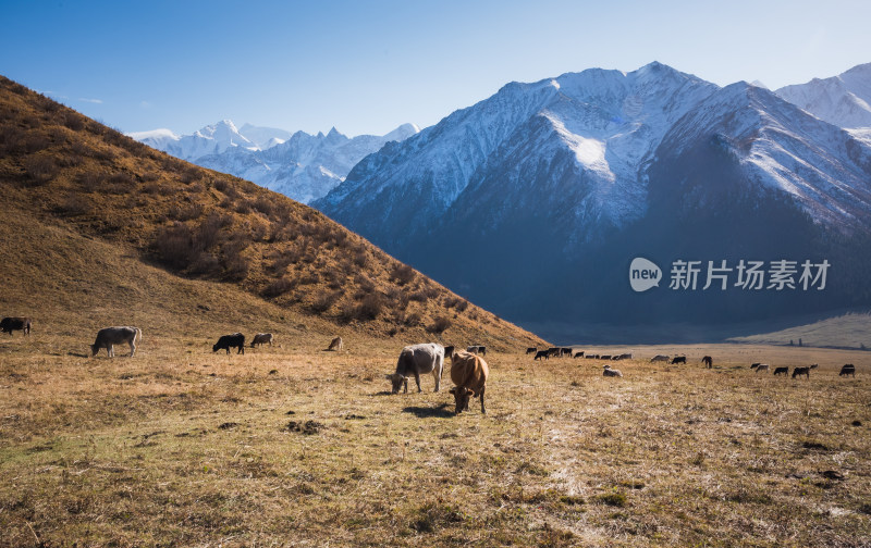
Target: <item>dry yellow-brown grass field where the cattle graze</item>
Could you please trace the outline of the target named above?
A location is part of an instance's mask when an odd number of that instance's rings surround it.
[[[623,378],[492,353],[488,413],[455,416],[447,372],[440,393],[431,376],[388,393],[402,341],[279,341],[225,356],[146,331],[109,359],[71,335],[4,335],[0,545],[871,543],[863,352],[621,348],[690,362],[615,362]],[[856,378],[837,376],[847,361]]]

